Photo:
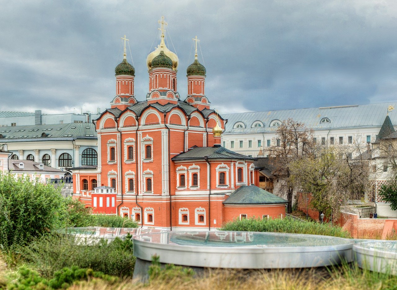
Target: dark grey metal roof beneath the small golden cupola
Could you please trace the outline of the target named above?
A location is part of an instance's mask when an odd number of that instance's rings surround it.
[[[235,153],[224,147],[193,147],[188,151],[178,154],[172,160],[189,160],[189,159],[252,159],[255,158]]]

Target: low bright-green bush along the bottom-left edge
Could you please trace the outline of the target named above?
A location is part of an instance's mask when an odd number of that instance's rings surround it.
[[[100,278],[108,282],[115,283],[117,277],[105,275],[102,272],[93,271],[93,269],[81,269],[77,266],[65,267],[54,273],[54,278],[48,280],[40,277],[39,273],[27,267],[21,267],[18,270],[18,279],[10,282],[7,288],[10,290],[46,290],[46,289],[66,289],[73,282],[78,280],[88,280],[90,278]]]

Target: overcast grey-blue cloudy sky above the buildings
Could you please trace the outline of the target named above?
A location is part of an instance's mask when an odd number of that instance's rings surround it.
[[[146,56],[160,43],[162,15],[182,99],[197,35],[206,95],[222,113],[397,100],[395,0],[0,0],[0,7],[1,110],[110,107],[124,34],[135,95],[144,100]]]

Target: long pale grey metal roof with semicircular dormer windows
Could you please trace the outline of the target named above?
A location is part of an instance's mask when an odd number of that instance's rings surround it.
[[[282,122],[288,118],[304,123],[313,129],[379,127],[384,122],[389,105],[396,107],[397,102],[222,114],[222,117],[228,120],[225,133],[270,132],[275,130],[274,127],[270,127],[272,121]],[[396,125],[397,111],[390,112],[389,116],[391,122]],[[324,118],[328,118],[330,122],[320,123]],[[264,126],[252,128],[255,121],[262,122]],[[243,122],[245,128],[233,129],[236,122]]]

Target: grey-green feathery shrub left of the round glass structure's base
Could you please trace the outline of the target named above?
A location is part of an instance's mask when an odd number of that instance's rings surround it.
[[[132,277],[135,257],[131,238],[127,235],[125,240],[116,238],[109,244],[101,240],[89,246],[88,241],[77,245],[72,237],[48,235],[24,247],[20,254],[25,263],[38,269],[46,278],[52,278],[56,271],[71,266],[91,268],[112,276]]]

